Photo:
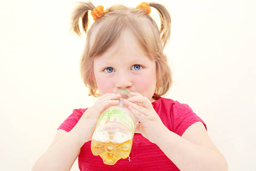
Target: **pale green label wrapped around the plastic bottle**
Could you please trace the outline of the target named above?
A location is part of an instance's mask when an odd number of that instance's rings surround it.
[[[135,125],[131,116],[125,111],[118,108],[110,108],[107,111],[103,112],[100,115],[96,127],[101,123],[105,123],[107,121],[124,123],[125,126],[127,126],[132,133],[134,133],[135,131]]]

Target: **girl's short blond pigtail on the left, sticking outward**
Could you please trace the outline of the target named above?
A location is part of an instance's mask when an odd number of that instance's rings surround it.
[[[81,37],[81,32],[79,29],[79,19],[82,18],[82,30],[87,33],[89,19],[88,19],[88,10],[93,10],[95,6],[89,1],[88,3],[77,2],[77,6],[74,8],[72,17],[71,17],[71,27],[70,30],[73,30],[74,33]]]

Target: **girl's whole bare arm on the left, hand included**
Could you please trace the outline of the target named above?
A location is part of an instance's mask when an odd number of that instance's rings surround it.
[[[102,111],[119,104],[120,94],[106,93],[88,108],[68,133],[58,130],[50,148],[36,161],[33,171],[69,171],[84,143],[92,138]]]

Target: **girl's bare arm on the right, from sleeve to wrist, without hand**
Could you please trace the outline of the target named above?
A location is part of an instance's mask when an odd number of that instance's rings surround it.
[[[224,156],[212,143],[202,122],[189,126],[182,137],[166,127],[156,145],[181,171],[228,171]]]

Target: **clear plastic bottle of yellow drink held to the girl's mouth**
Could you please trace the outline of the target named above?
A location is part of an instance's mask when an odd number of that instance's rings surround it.
[[[136,127],[134,116],[123,106],[123,100],[131,97],[130,92],[122,89],[116,94],[121,95],[119,105],[107,108],[100,115],[92,134],[92,154],[100,155],[103,162],[108,165],[129,156]]]

